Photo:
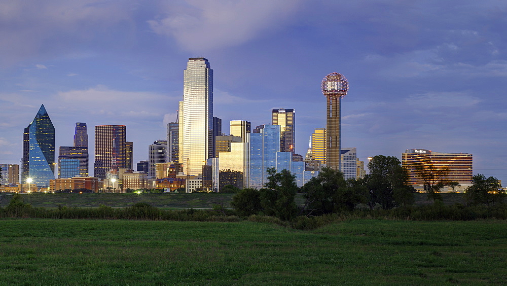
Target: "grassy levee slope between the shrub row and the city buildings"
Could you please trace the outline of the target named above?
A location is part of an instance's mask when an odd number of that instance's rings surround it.
[[[40,194],[34,193],[24,195],[25,203],[30,203],[35,207],[57,207],[60,205],[77,207],[97,207],[101,204],[113,207],[125,207],[136,202],[146,202],[152,206],[161,208],[212,208],[213,204],[222,203],[224,207],[230,207],[233,193],[136,193],[113,194],[73,194],[56,193]],[[427,194],[414,194],[417,205],[432,204],[432,200],[427,199]],[[0,194],[1,206],[9,204],[12,196],[3,196]],[[442,194],[445,204],[463,203],[463,194]],[[296,203],[304,204],[302,193],[296,195]]]

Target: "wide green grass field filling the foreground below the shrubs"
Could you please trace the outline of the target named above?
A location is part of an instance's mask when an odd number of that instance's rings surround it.
[[[505,221],[2,220],[5,284],[504,284]]]

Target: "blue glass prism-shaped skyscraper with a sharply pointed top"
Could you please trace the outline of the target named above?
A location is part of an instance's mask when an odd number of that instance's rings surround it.
[[[31,184],[48,187],[49,180],[55,178],[54,163],[55,127],[43,104],[23,133],[23,175],[21,183],[25,183],[30,178]]]

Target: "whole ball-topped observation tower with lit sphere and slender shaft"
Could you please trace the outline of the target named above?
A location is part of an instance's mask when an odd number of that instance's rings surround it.
[[[322,80],[322,94],[328,98],[325,161],[334,170],[340,170],[340,100],[347,92],[348,81],[341,74],[331,73]]]

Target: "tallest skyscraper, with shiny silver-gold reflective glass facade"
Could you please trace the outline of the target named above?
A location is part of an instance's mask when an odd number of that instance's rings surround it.
[[[197,175],[202,173],[206,159],[214,155],[213,70],[207,59],[189,58],[179,111],[179,162],[185,165],[187,175]]]

